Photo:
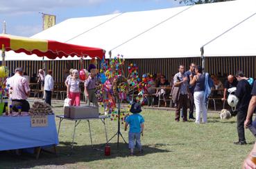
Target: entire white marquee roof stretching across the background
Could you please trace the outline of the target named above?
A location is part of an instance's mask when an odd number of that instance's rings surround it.
[[[33,38],[103,48],[106,57],[110,50],[125,58],[200,57],[202,46],[254,14],[255,6],[237,0],[67,19]],[[256,56],[255,18],[207,44],[205,56]]]

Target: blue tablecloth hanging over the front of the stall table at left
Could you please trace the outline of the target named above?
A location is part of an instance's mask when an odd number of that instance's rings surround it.
[[[31,117],[0,117],[0,150],[14,150],[58,144],[55,115],[47,127],[31,127]]]

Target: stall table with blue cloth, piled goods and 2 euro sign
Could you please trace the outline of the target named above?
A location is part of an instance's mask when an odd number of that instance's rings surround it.
[[[11,107],[0,116],[0,150],[36,148],[37,158],[46,146],[56,150],[56,121],[48,104],[35,102],[29,112],[12,112]]]

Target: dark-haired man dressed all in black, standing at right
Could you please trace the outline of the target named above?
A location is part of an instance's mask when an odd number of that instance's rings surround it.
[[[251,86],[248,83],[248,78],[245,77],[244,73],[239,71],[236,74],[237,77],[237,91],[234,95],[236,95],[239,99],[237,103],[237,132],[239,140],[234,142],[234,144],[244,145],[246,144],[246,137],[244,135],[244,121],[246,121],[248,106],[250,103],[250,92]]]

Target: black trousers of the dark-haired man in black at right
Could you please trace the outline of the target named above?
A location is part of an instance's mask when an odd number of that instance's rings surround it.
[[[239,141],[246,141],[244,135],[244,121],[246,121],[247,110],[238,110],[237,112],[237,133]]]

